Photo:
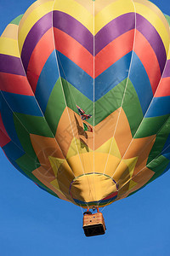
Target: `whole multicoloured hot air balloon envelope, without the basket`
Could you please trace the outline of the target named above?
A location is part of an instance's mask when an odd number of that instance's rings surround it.
[[[0,143],[15,168],[82,207],[167,172],[169,20],[146,0],[39,0],[13,20],[0,38]]]

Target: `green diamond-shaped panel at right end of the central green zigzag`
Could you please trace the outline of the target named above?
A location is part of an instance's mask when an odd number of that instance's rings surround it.
[[[138,130],[141,120],[144,117],[142,108],[140,106],[139,97],[133,84],[128,79],[126,94],[122,104],[122,108],[127,115],[127,119],[131,128],[132,136]]]

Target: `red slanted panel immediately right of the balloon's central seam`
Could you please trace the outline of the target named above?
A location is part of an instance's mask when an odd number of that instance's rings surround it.
[[[134,30],[126,32],[110,44],[107,44],[105,48],[95,56],[95,78],[133,50],[133,38]]]

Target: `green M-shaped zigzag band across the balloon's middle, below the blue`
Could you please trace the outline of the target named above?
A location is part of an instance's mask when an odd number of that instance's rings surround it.
[[[97,102],[92,102],[88,97],[84,96],[74,86],[69,84],[65,79],[61,79],[63,90],[65,92],[66,104],[74,112],[78,113],[76,105],[82,108],[86,113],[92,115],[95,114],[95,123],[93,117],[88,119],[88,123],[91,125],[98,125],[108,115],[116,111],[122,105],[122,98],[124,89],[127,84],[126,95],[124,98],[123,109],[127,114],[129,125],[134,134],[137,130],[141,119],[143,118],[142,109],[140,107],[139,98],[136,91],[133,88],[133,84],[130,80],[123,80],[120,84],[117,84],[112,90],[110,90],[105,96],[101,97]],[[131,102],[131,104],[129,104]],[[54,90],[49,97],[48,106],[45,112],[45,117],[48,120],[48,124],[52,131],[56,132],[59,124],[59,119],[65,110],[65,101],[63,91],[60,86],[60,81],[55,84]],[[95,113],[94,113],[95,111]],[[133,118],[135,116],[135,119]]]

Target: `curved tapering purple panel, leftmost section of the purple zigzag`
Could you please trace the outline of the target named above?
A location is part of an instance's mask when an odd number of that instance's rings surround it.
[[[40,41],[42,36],[52,27],[52,12],[42,16],[37,23],[32,26],[31,31],[26,37],[26,41],[23,45],[21,52],[21,60],[24,68],[27,71],[27,67],[31,58],[32,51]]]

